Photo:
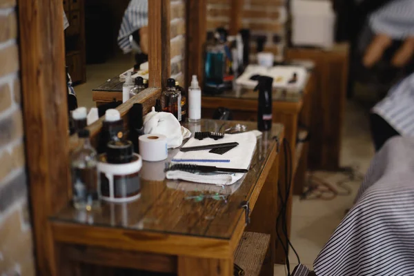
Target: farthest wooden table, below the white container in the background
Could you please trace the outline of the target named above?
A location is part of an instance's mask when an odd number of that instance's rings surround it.
[[[337,170],[348,83],[347,43],[331,49],[288,48],[288,59],[315,63],[309,166],[315,170]]]

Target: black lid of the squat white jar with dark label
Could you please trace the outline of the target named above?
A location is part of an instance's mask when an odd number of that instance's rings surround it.
[[[111,164],[129,163],[134,158],[131,141],[109,141],[106,145],[106,159]]]

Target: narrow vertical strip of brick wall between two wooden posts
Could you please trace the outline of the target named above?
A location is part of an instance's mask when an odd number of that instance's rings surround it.
[[[186,86],[185,52],[186,52],[186,3],[185,0],[171,0],[171,77],[179,81],[180,86]]]

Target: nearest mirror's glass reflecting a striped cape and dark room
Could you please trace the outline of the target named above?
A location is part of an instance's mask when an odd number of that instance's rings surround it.
[[[85,107],[75,117],[89,125],[148,87],[148,0],[63,0],[63,8],[69,117]],[[95,91],[106,92],[99,106]]]

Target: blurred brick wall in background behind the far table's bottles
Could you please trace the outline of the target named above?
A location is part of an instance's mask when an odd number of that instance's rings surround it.
[[[286,0],[244,0],[242,12],[242,28],[249,28],[252,35],[250,53],[256,52],[256,37],[264,35],[264,50],[282,60],[286,46]],[[228,29],[229,21],[230,0],[208,0],[207,30]],[[250,60],[255,61],[255,55],[250,55]]]

